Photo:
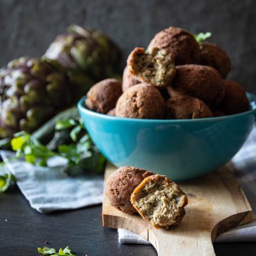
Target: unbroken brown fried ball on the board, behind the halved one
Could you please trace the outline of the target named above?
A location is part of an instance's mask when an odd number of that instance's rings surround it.
[[[143,179],[153,174],[132,166],[120,167],[109,176],[107,182],[105,193],[110,204],[122,212],[136,213],[136,209],[131,204],[132,192]]]

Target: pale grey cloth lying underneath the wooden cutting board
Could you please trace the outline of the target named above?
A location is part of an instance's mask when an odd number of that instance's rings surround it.
[[[244,190],[253,210],[251,223],[232,228],[217,237],[216,243],[256,241],[256,127],[248,140],[232,159],[234,174]],[[142,237],[122,228],[118,229],[120,243],[150,244]]]

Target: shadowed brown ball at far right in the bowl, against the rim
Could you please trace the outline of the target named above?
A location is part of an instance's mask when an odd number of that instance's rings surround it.
[[[237,82],[231,80],[223,81],[225,96],[220,104],[220,111],[227,115],[237,114],[250,109],[250,103],[246,97],[244,88]]]

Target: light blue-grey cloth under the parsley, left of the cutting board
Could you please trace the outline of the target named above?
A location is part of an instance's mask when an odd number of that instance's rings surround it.
[[[68,177],[63,172],[63,159],[53,157],[51,167],[33,166],[21,159],[8,161],[13,152],[1,151],[1,157],[17,179],[17,185],[29,204],[38,212],[77,209],[101,204],[102,176]]]

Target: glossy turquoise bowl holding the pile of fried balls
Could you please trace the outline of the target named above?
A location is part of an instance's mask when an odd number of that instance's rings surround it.
[[[93,142],[116,166],[137,166],[173,180],[193,179],[230,161],[252,131],[256,96],[247,93],[251,109],[236,115],[193,120],[148,120],[79,113]]]

